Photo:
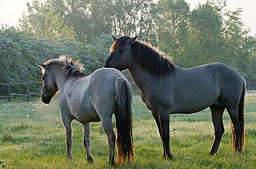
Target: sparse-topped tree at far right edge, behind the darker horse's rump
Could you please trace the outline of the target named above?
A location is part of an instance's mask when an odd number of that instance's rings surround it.
[[[241,21],[241,8],[224,13],[224,57],[226,64],[239,71],[246,80],[256,80],[256,38],[249,35]]]

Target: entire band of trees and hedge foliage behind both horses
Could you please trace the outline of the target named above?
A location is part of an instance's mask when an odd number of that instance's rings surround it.
[[[0,80],[22,78],[19,70],[36,77],[35,60],[63,54],[81,59],[90,73],[109,55],[112,34],[139,35],[183,68],[223,62],[256,81],[256,37],[241,21],[240,8],[225,10],[226,0],[208,0],[193,10],[186,0],[33,0],[27,6],[19,21],[22,31],[1,30],[6,71]]]

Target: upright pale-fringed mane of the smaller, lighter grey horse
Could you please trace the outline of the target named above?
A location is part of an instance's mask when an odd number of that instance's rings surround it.
[[[79,63],[79,60],[73,60],[68,56],[60,56],[59,58],[48,60],[44,63],[45,65],[59,65],[61,66],[65,72],[65,80],[70,77],[85,77],[86,74],[83,73],[83,65]]]

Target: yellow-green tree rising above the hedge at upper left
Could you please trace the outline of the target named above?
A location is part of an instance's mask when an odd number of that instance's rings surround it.
[[[76,32],[74,28],[64,26],[63,18],[60,13],[54,14],[52,10],[46,7],[48,1],[44,4],[38,0],[32,1],[32,6],[27,2],[30,15],[23,14],[23,19],[19,20],[20,26],[37,38],[55,38],[57,40],[74,40]]]

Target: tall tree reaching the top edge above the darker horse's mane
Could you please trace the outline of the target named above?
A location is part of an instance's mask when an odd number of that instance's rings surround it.
[[[188,37],[190,7],[185,0],[159,0],[157,42],[160,49],[176,55]]]

